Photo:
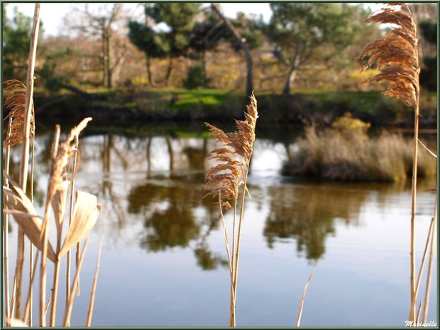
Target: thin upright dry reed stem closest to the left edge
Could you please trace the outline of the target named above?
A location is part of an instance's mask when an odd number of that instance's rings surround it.
[[[6,135],[6,138],[9,138],[11,136],[11,130],[12,130],[12,118],[9,118],[8,123],[8,133]],[[11,158],[11,147],[10,145],[6,146],[6,154],[5,154],[5,163],[4,163],[4,170],[6,174],[9,175],[9,161]],[[4,181],[4,185],[6,187],[9,187],[9,182],[6,179]],[[10,312],[10,306],[9,306],[9,216],[8,214],[3,214],[3,243],[4,243],[4,301],[5,301],[5,314],[6,317],[11,317]],[[9,325],[9,323],[5,322],[6,326]]]

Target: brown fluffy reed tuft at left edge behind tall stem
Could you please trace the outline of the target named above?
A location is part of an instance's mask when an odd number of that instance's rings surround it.
[[[24,123],[24,108],[26,104],[26,86],[16,79],[6,80],[4,82],[4,90],[5,91],[13,91],[4,102],[4,106],[6,109],[10,109],[8,116],[6,119],[12,118],[12,129],[11,135],[6,136],[3,141],[3,147],[7,148],[8,146],[13,146],[16,144],[20,144],[23,141],[23,123]],[[31,132],[30,138],[33,141],[33,135],[35,130],[35,121],[34,121],[34,112],[33,112],[33,104],[31,106]]]

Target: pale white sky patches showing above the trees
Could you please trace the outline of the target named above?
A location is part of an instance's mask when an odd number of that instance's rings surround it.
[[[40,6],[40,20],[43,21],[44,33],[46,36],[49,35],[62,35],[68,33],[68,31],[63,26],[63,19],[69,13],[72,12],[74,6],[79,4],[72,3],[41,3]],[[89,4],[89,8],[92,11],[99,6],[104,4]],[[142,4],[132,3],[123,4],[132,15],[138,19],[143,18],[143,8]],[[208,6],[209,4],[203,4],[203,6]],[[257,15],[263,15],[263,20],[268,22],[272,11],[268,3],[231,3],[231,4],[219,4],[221,9],[223,9],[224,14],[229,18],[235,18],[238,11],[243,11],[244,13],[255,13]],[[33,16],[33,11],[35,9],[35,3],[21,3],[21,4],[8,4],[6,7],[6,15],[8,17],[13,16],[13,8],[18,8],[26,16]],[[368,4],[373,10],[378,9],[378,4]]]

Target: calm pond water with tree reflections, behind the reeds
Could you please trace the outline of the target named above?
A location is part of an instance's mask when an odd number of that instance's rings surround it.
[[[227,326],[229,270],[219,209],[211,199],[202,199],[204,172],[212,165],[206,155],[214,140],[206,133],[90,131],[80,138],[75,185],[96,194],[103,214],[108,211],[92,325]],[[405,326],[410,182],[336,184],[282,177],[282,163],[295,150],[295,134],[290,128],[274,132],[258,134],[254,146],[237,325],[295,326],[304,285],[319,260],[302,326]],[[52,138],[40,133],[35,140],[35,204],[41,214]],[[11,162],[16,175],[18,150]],[[424,190],[435,186],[435,178],[419,182],[417,269],[434,214],[435,195]],[[229,226],[231,216],[226,212]],[[9,223],[13,269],[16,224],[13,219]],[[87,316],[100,231],[101,221],[89,235],[72,326],[84,326]],[[61,270],[65,274],[64,263]],[[429,321],[437,320],[436,278],[435,260]],[[63,281],[57,324],[64,311]],[[424,299],[425,283],[423,277],[419,299]]]

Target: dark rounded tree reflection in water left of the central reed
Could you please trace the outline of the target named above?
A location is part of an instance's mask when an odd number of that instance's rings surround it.
[[[199,175],[151,181],[133,187],[127,197],[128,212],[145,217],[141,246],[153,252],[191,247],[197,264],[204,270],[227,265],[226,260],[209,250],[207,238],[219,226],[219,211],[210,200],[202,199],[204,185]],[[207,213],[203,220],[194,216],[197,207]]]

